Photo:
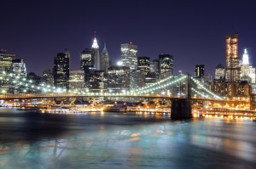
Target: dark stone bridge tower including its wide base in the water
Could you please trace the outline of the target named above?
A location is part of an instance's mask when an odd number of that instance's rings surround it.
[[[191,84],[190,75],[186,79],[186,98],[172,99],[171,103],[171,118],[172,119],[190,119],[192,118],[191,110]]]

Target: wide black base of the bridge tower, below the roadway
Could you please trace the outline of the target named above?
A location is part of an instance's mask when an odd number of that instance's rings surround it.
[[[172,99],[171,119],[192,118],[191,99]]]

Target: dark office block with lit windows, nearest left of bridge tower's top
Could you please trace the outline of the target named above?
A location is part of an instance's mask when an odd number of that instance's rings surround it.
[[[173,75],[173,56],[171,54],[160,54],[160,78]]]

